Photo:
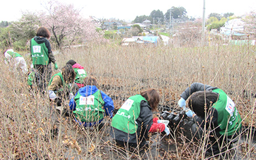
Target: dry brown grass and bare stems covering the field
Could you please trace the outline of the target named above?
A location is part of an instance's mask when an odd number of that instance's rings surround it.
[[[56,60],[60,68],[69,59],[84,66],[116,108],[143,89],[159,89],[160,105],[175,108],[189,84],[217,86],[233,99],[243,125],[250,128],[256,121],[255,51],[253,46],[91,45],[62,51]],[[101,132],[85,130],[70,116],[56,113],[46,95],[30,92],[25,77],[9,72],[3,60],[0,70],[0,159],[204,159],[203,143],[187,142],[182,135],[169,139],[156,134],[143,153],[122,151],[108,135],[111,120]],[[249,130],[244,135],[235,151],[242,159],[254,159],[255,142]]]

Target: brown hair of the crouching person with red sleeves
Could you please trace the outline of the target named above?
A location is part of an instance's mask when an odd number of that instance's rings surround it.
[[[142,97],[144,97],[148,101],[149,105],[151,106],[151,108],[153,108],[153,110],[158,111],[160,97],[156,89],[151,88],[148,90],[144,90],[140,93],[140,95],[142,95]]]

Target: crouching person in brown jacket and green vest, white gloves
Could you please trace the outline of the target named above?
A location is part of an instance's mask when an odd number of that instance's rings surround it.
[[[48,86],[49,98],[51,101],[55,102],[57,106],[61,106],[65,99],[74,97],[71,92],[71,86],[72,83],[74,83],[75,77],[76,73],[71,65],[65,65],[61,69],[61,72],[51,77]]]

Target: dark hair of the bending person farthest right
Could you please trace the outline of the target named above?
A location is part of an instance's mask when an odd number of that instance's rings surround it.
[[[189,98],[189,108],[194,111],[197,116],[205,118],[205,114],[208,113],[212,104],[215,103],[217,99],[218,94],[211,90],[198,91],[193,93]]]

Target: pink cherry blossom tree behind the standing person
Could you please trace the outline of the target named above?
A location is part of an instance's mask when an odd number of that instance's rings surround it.
[[[82,18],[80,10],[72,4],[50,1],[44,7],[47,11],[39,16],[40,22],[50,30],[51,38],[60,49],[66,45],[103,40],[93,19]]]

